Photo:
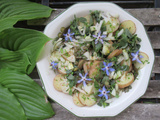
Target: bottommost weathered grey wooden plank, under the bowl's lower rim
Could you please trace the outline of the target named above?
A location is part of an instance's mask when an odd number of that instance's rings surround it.
[[[104,118],[79,118],[56,103],[52,106],[56,115],[47,120],[159,120],[160,118],[160,104],[132,104],[119,115]]]

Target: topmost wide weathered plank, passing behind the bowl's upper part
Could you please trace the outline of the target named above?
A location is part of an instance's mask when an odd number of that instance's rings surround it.
[[[47,25],[64,10],[56,9],[49,18],[30,20],[28,21],[28,25]],[[126,11],[139,19],[145,26],[160,26],[160,8],[126,9]]]

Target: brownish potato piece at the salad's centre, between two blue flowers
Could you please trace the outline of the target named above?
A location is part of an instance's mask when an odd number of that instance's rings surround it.
[[[100,63],[101,61],[94,61],[93,65],[91,65],[90,71],[89,71],[89,77],[99,77],[100,75]]]

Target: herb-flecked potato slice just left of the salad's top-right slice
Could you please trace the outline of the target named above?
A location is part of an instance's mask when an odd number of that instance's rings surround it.
[[[108,33],[115,32],[120,25],[119,19],[111,17],[111,20],[106,23],[106,28]]]

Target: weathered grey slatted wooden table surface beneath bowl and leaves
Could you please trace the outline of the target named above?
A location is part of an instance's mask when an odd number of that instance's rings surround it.
[[[44,28],[54,17],[65,9],[56,9],[48,19],[28,21],[28,26]],[[47,120],[160,120],[160,31],[156,31],[160,26],[160,8],[126,9],[134,17],[139,19],[144,25],[151,40],[155,52],[155,64],[152,71],[152,79],[148,89],[136,103],[115,117],[105,118],[79,118],[64,109],[57,103],[52,102],[56,115]],[[30,74],[38,84],[41,84],[37,70]]]

